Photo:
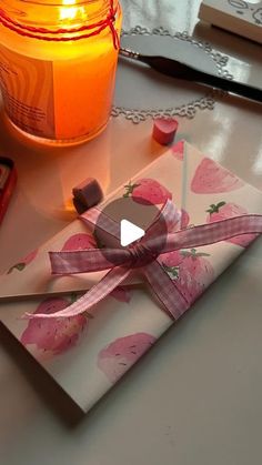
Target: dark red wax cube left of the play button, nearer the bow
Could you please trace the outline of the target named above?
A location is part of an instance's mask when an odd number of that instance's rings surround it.
[[[73,188],[73,204],[78,213],[83,213],[91,206],[97,205],[103,199],[103,192],[98,181],[87,178],[79,185]]]

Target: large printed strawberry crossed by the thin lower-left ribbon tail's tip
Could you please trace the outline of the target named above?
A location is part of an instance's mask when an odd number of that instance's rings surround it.
[[[34,314],[59,312],[69,305],[66,299],[47,299]],[[30,320],[20,341],[23,345],[34,344],[40,351],[59,355],[77,344],[87,325],[88,319],[83,314],[68,319]]]

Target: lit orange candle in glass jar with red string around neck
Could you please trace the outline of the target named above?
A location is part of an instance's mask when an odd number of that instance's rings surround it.
[[[0,0],[0,85],[11,123],[46,143],[99,134],[120,28],[118,0]]]

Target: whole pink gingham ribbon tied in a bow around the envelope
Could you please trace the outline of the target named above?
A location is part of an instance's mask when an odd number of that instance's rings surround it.
[[[114,237],[119,237],[119,225],[98,209],[92,209],[81,218],[89,225],[95,225],[100,216],[100,228]],[[67,309],[53,314],[27,314],[29,319],[57,319],[75,316],[91,309],[120,285],[134,269],[143,274],[158,300],[169,315],[178,320],[191,305],[179,291],[161,265],[160,256],[181,249],[209,245],[241,234],[262,233],[262,215],[246,214],[201,224],[184,230],[169,232],[164,237],[161,221],[169,224],[171,231],[178,224],[178,210],[169,200],[159,216],[147,230],[145,235],[127,249],[88,249],[82,251],[50,252],[52,273],[56,275],[109,272],[90,291]]]

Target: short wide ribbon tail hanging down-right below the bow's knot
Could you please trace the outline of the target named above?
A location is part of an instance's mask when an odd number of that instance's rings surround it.
[[[190,307],[190,303],[180,293],[175,282],[171,280],[158,260],[144,266],[143,274],[173,320],[178,320]]]

